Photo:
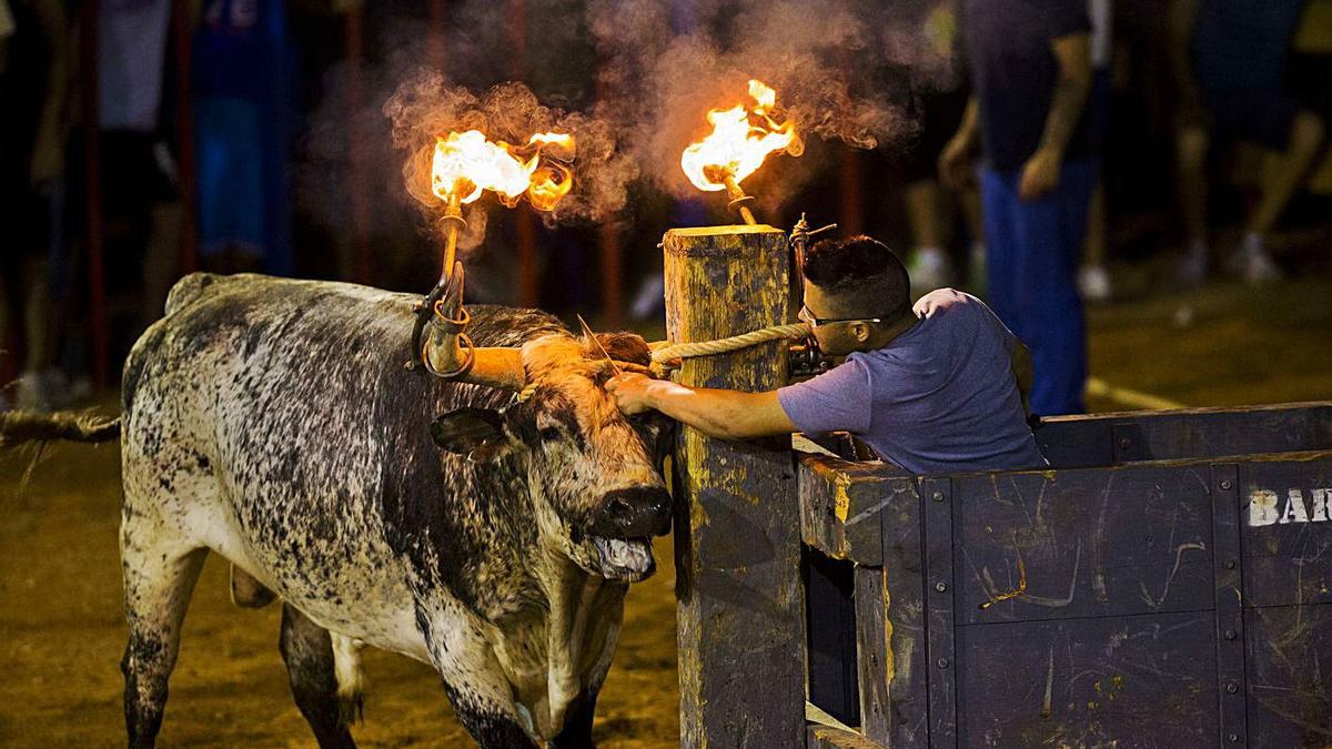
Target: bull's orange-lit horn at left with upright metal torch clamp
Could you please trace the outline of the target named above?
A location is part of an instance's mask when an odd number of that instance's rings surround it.
[[[432,300],[429,335],[421,351],[421,361],[434,374],[448,380],[502,390],[522,390],[526,384],[522,351],[517,348],[477,348],[472,345],[472,339],[464,332],[468,328],[469,316],[462,307],[461,263],[454,265],[448,285],[442,299]]]

